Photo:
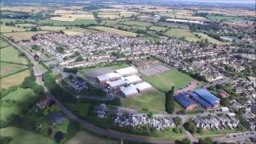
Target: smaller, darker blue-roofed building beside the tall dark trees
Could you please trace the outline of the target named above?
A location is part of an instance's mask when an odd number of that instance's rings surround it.
[[[197,105],[189,98],[189,94],[180,93],[174,99],[182,105],[186,110],[193,110]]]

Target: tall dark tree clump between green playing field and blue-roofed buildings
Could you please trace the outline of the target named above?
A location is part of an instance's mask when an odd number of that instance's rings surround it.
[[[175,110],[174,102],[174,86],[171,87],[171,90],[166,92],[166,112],[173,114]]]

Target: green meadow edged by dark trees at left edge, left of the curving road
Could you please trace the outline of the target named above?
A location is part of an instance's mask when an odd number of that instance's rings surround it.
[[[14,100],[15,103],[11,104],[11,106],[1,105],[1,119],[8,118],[11,114],[20,114],[22,112],[21,105],[22,102],[26,102],[30,98],[35,96],[34,91],[31,89],[22,89],[18,88],[17,90],[7,94],[1,101],[6,102],[6,100]]]

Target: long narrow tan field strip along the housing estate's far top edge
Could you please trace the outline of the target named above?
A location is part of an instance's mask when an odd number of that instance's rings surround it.
[[[125,31],[125,30],[118,30],[118,29],[104,27],[104,26],[90,26],[89,28],[93,29],[93,30],[100,30],[100,31],[108,32],[108,33],[119,34],[119,35],[129,36],[129,37],[136,37],[138,35],[133,32],[129,32],[129,31]]]

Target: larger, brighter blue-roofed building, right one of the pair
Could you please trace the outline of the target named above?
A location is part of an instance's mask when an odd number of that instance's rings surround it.
[[[204,90],[204,89],[194,90],[193,93],[198,94],[200,98],[210,103],[210,105],[218,106],[220,99],[214,96],[214,94],[210,94],[208,90]]]

